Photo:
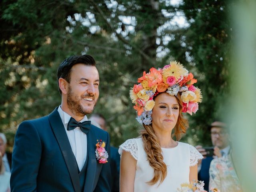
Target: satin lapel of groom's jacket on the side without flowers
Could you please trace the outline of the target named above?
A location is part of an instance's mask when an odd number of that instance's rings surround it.
[[[62,120],[57,109],[58,108],[56,108],[51,114],[49,114],[48,118],[50,120],[52,131],[54,132],[56,140],[58,141],[58,144],[60,146],[60,150],[62,152],[66,166],[68,168],[68,172],[70,174],[74,190],[75,192],[80,192],[81,190],[76,166],[76,158],[74,157],[74,154],[72,152],[68,136],[66,134],[66,131],[64,129]]]

